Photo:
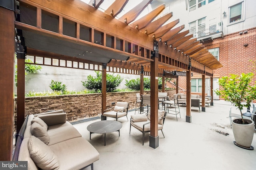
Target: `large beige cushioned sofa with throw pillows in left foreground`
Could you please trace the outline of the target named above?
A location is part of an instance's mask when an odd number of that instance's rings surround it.
[[[93,170],[99,160],[98,151],[66,121],[63,110],[28,115],[17,136],[13,160],[28,161],[28,170]]]

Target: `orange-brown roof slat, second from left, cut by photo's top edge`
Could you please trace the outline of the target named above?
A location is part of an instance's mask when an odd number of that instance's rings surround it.
[[[116,0],[110,5],[110,7],[108,7],[108,9],[106,9],[105,13],[112,17],[116,17],[120,12],[122,12],[127,2],[128,0]]]

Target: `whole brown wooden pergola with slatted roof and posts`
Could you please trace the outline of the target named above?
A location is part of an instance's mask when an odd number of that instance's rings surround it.
[[[213,70],[222,67],[215,57],[184,25],[175,27],[179,20],[170,21],[172,13],[156,17],[164,10],[160,5],[148,15],[136,20],[152,2],[143,0],[120,18],[115,18],[128,0],[116,0],[102,12],[103,0],[0,0],[0,57],[2,137],[1,160],[11,160],[14,122],[14,54],[18,59],[17,131],[25,113],[25,56],[33,55],[53,60],[88,64],[90,70],[102,71],[102,111],[106,109],[106,72],[150,76],[151,129],[150,147],[158,147],[158,77],[177,78],[172,71],[186,72],[186,121],[191,122],[191,73],[202,74],[202,94],[205,94],[205,76],[211,79]],[[165,24],[165,25],[164,25]],[[16,39],[16,40],[15,40]],[[36,57],[34,64],[37,63]],[[60,62],[59,62],[60,63]],[[49,64],[48,64],[49,65]],[[177,78],[178,80],[178,78]],[[163,83],[164,86],[164,83]],[[178,86],[178,81],[177,81]],[[164,91],[164,88],[163,88]],[[178,93],[178,88],[177,88]],[[204,95],[202,110],[205,111]],[[213,104],[213,98],[212,98]],[[203,109],[204,108],[204,109]],[[104,117],[102,117],[104,119]]]

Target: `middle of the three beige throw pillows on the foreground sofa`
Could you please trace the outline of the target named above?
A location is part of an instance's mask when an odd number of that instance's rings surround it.
[[[31,134],[34,135],[35,137],[38,137],[42,142],[44,142],[46,145],[50,142],[50,137],[47,133],[47,131],[38,123],[34,122],[31,125]]]

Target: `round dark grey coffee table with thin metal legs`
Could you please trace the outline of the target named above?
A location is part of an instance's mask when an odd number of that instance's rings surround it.
[[[118,131],[120,136],[120,129],[122,128],[122,123],[115,120],[102,120],[91,123],[87,126],[87,130],[90,132],[90,139],[92,133],[104,134],[104,145],[106,146],[106,133],[112,133]]]

